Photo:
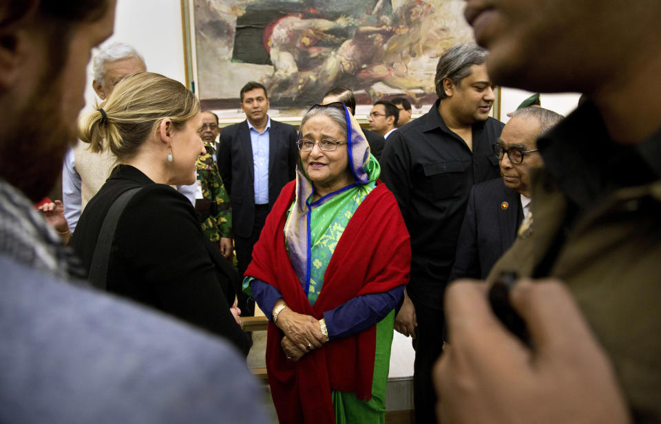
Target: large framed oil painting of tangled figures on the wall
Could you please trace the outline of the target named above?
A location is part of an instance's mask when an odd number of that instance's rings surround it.
[[[461,0],[190,1],[196,89],[226,119],[244,117],[248,81],[266,86],[274,116],[300,116],[337,86],[353,89],[357,114],[395,96],[426,112],[439,56],[472,41]]]

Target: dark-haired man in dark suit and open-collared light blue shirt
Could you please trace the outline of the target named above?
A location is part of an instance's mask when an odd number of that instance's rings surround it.
[[[232,204],[234,248],[243,275],[266,215],[284,184],[294,179],[298,149],[295,127],[269,118],[269,96],[264,85],[247,83],[241,89],[240,100],[246,120],[220,131],[217,160]],[[250,316],[255,304],[240,295],[239,308],[242,315]]]

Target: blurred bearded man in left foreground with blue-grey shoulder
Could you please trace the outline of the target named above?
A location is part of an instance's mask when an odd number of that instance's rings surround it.
[[[76,139],[85,65],[114,10],[0,6],[0,422],[264,423],[233,348],[80,287],[78,262],[32,208]]]

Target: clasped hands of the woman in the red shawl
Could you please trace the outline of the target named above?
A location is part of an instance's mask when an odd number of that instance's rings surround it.
[[[284,332],[280,345],[288,359],[298,361],[304,354],[321,348],[326,343],[319,320],[311,315],[294,312],[290,308],[280,311],[275,322]]]

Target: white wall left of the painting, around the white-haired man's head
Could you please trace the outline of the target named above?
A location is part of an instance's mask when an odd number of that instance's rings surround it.
[[[136,47],[147,70],[186,84],[180,0],[117,0],[115,32],[103,45],[122,41]],[[103,47],[101,45],[101,47]],[[95,52],[92,52],[94,56]],[[96,95],[92,89],[92,62],[87,66],[85,109]]]

